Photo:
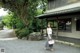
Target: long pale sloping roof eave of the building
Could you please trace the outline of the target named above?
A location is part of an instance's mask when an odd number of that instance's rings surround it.
[[[66,6],[59,7],[59,8],[55,8],[52,10],[48,10],[44,14],[36,16],[36,17],[47,18],[50,16],[58,16],[58,15],[63,15],[63,14],[76,13],[76,12],[80,12],[80,2],[66,5]]]

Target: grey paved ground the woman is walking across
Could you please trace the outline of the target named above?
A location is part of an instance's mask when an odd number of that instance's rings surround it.
[[[11,35],[12,36],[11,37],[9,35],[9,31],[10,30],[3,32],[0,31],[1,37],[0,48],[4,49],[4,53],[80,53],[80,48],[60,43],[54,44],[53,47],[55,49],[54,51],[47,51],[45,50],[46,40],[42,41],[20,40],[13,35]],[[8,38],[7,36],[10,37]]]

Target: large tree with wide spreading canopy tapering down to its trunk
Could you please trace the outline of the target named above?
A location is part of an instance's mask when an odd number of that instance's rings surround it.
[[[42,6],[42,13],[45,11],[47,0],[0,0],[0,6],[13,12],[17,18],[21,19],[27,30],[32,30],[37,16],[37,6]],[[39,4],[40,2],[40,4]],[[41,14],[41,13],[40,13]],[[35,24],[38,21],[35,22]],[[37,24],[36,24],[37,26]],[[22,30],[22,29],[21,29]],[[24,29],[25,30],[25,29]],[[22,30],[23,31],[23,30]]]

